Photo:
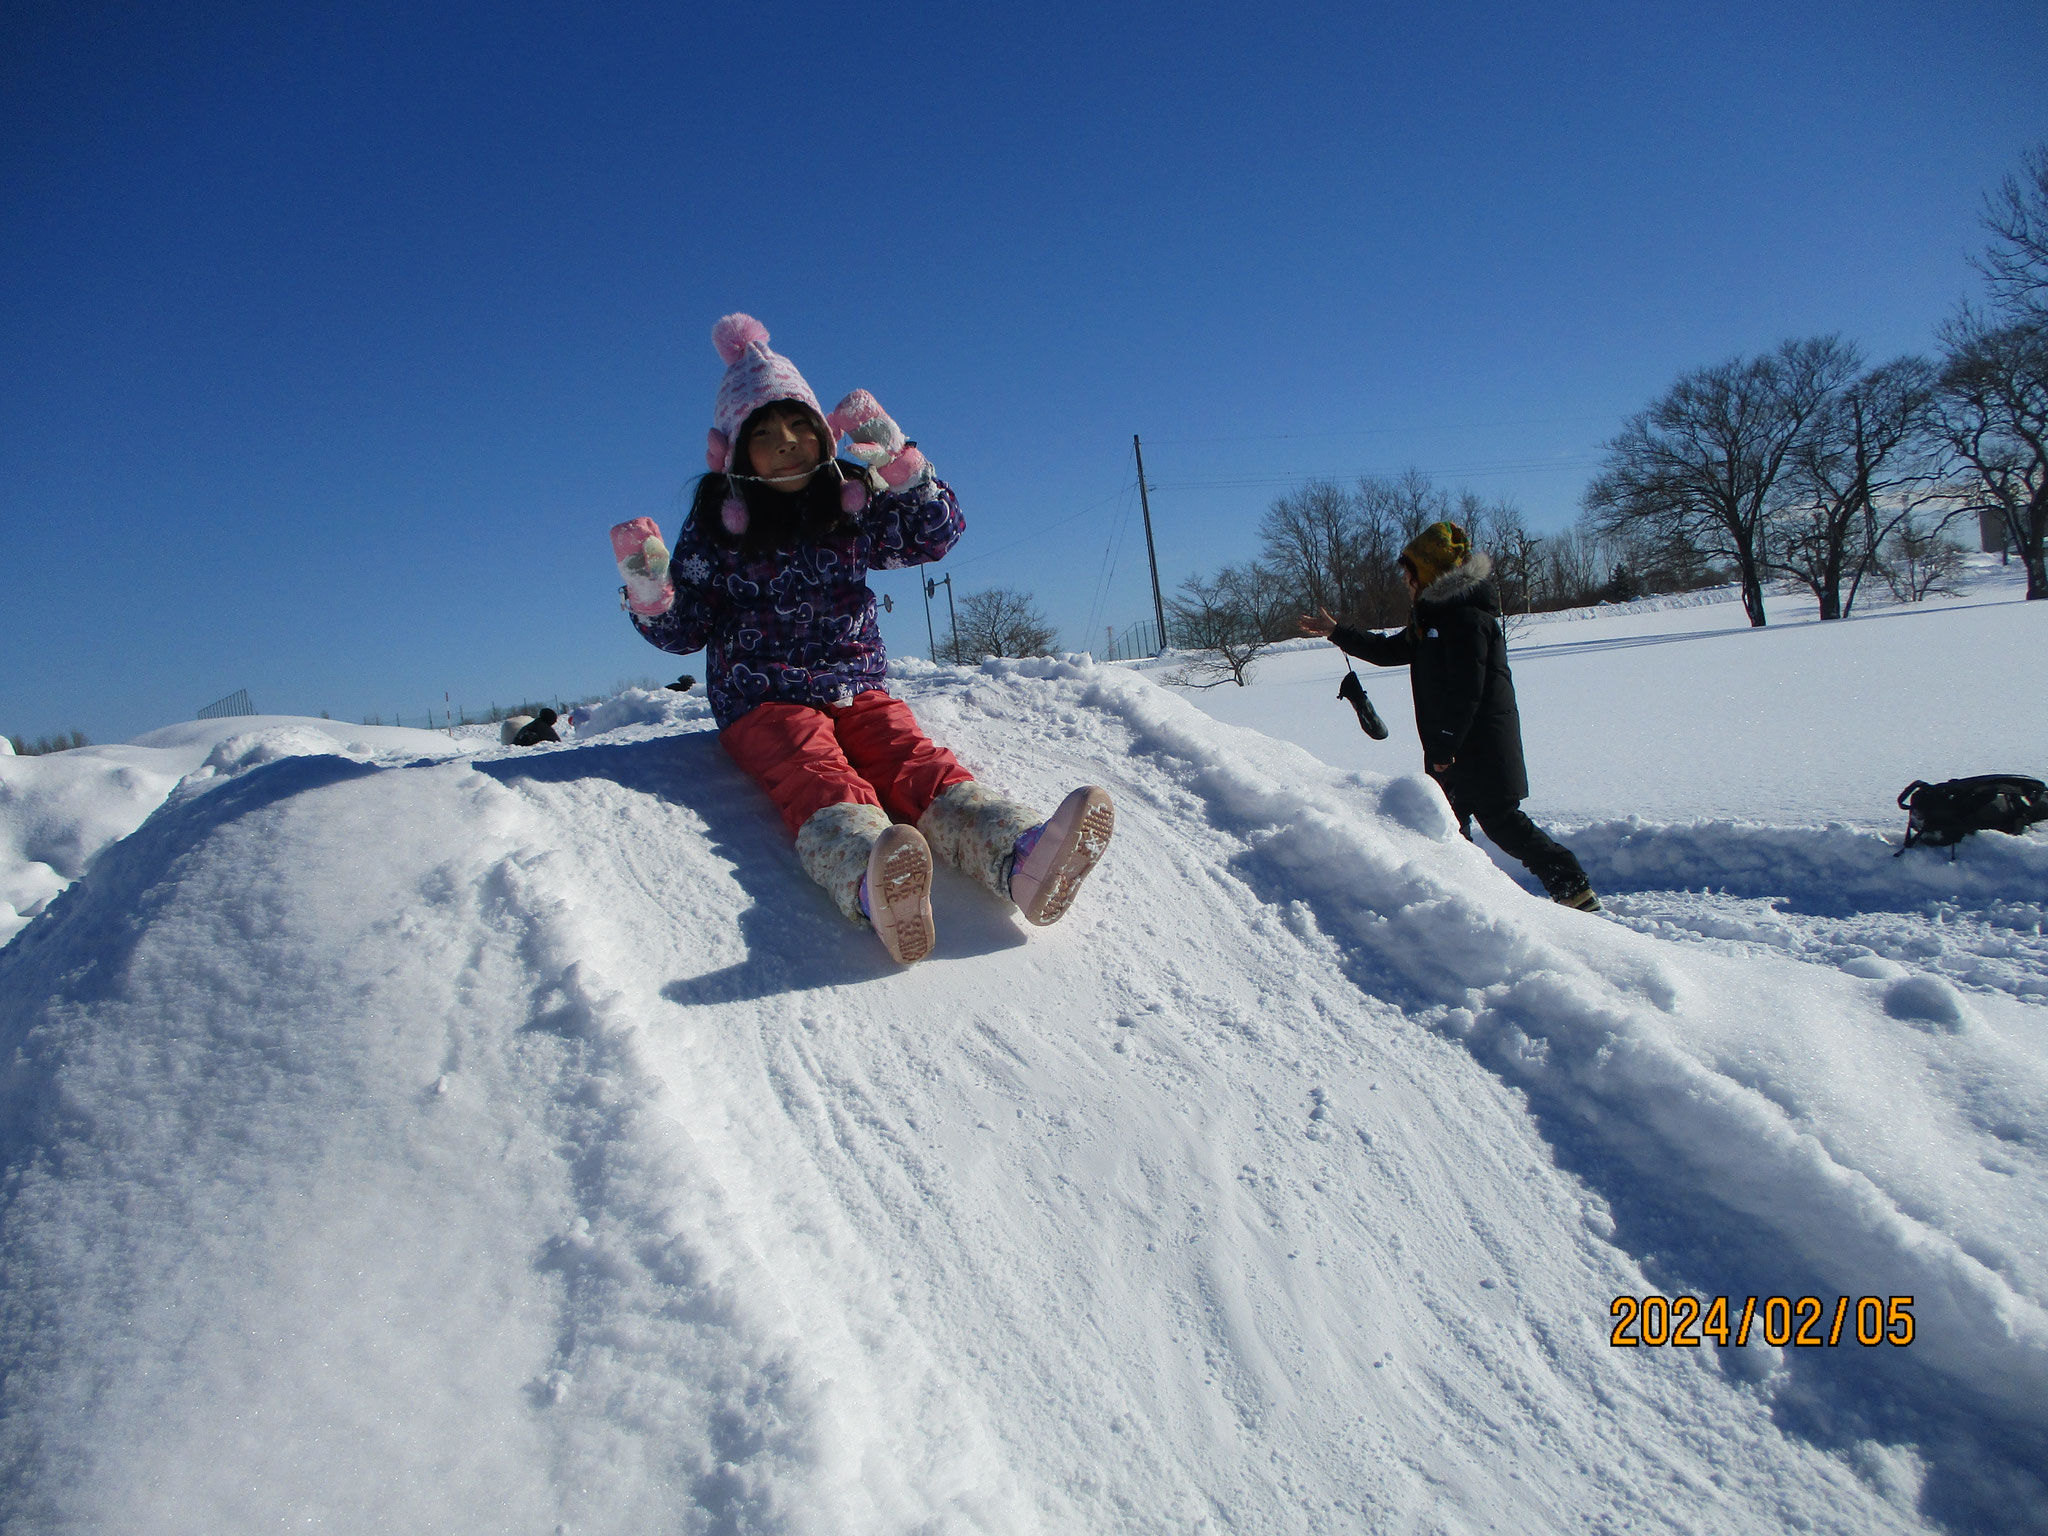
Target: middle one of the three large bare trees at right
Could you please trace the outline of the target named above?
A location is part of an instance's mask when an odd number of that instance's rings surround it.
[[[1821,618],[1853,610],[1886,537],[1939,494],[1931,362],[1894,358],[1835,389],[1792,444],[1772,569],[1802,582]]]

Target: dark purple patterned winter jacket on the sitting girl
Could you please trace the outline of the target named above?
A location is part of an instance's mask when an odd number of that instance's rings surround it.
[[[721,731],[770,700],[846,705],[887,670],[868,571],[940,559],[965,526],[942,479],[872,496],[840,537],[756,555],[700,537],[692,518],[670,559],[676,606],[633,627],[664,651],[705,651]]]

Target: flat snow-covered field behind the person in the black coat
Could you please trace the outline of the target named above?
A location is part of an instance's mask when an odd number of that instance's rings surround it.
[[[2021,602],[2019,567],[1980,559],[1972,578],[1962,598],[1841,625],[1821,625],[1810,596],[1774,592],[1769,627],[1749,629],[1733,588],[1520,621],[1524,809],[1642,932],[1825,965],[1878,954],[2048,999],[2048,881],[2025,844],[1894,858],[1896,797],[1915,778],[2048,778],[2048,618]],[[1413,770],[1407,670],[1356,664],[1393,731],[1372,741],[1335,698],[1343,666],[1323,641],[1290,641],[1249,688],[1188,698],[1333,768]]]

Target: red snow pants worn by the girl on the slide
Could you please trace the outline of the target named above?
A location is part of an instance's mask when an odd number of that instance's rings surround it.
[[[879,805],[915,823],[942,791],[973,778],[881,688],[850,705],[756,705],[719,743],[782,813],[791,836],[827,805]]]

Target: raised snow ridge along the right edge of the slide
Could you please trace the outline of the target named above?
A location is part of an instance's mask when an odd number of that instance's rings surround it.
[[[1686,983],[1653,950],[1630,954],[1632,975],[1616,973],[1608,956],[1606,967],[1589,965],[1589,946],[1571,942],[1583,928],[1577,918],[1536,901],[1503,911],[1475,899],[1477,883],[1446,879],[1450,868],[1470,870],[1470,858],[1413,858],[1386,836],[1389,823],[1454,836],[1448,811],[1432,819],[1411,809],[1430,805],[1434,791],[1423,793],[1421,780],[1389,784],[1386,815],[1374,825],[1333,797],[1274,788],[1219,750],[1217,727],[1196,725],[1190,707],[1171,709],[1157,692],[1104,682],[1090,702],[1118,709],[1153,750],[1188,762],[1198,793],[1251,844],[1247,858],[1272,866],[1272,885],[1300,893],[1364,975],[1405,981],[1434,1006],[1438,1028],[1556,1110],[1583,1122],[1616,1118],[1653,1139],[1673,1184],[1767,1223],[1833,1294],[1917,1294],[1927,1343],[1915,1360],[1985,1393],[2025,1427],[2048,1427],[2040,1298],[2015,1294],[1954,1239],[1839,1165],[1778,1104],[1675,1049],[1669,1016],[1683,1012]],[[1307,776],[1307,762],[1300,768]],[[2048,868],[2048,846],[1999,842],[2005,848],[1987,860],[1995,868]],[[1483,877],[1505,883],[1491,866]],[[1845,979],[1841,991],[1853,985]]]

